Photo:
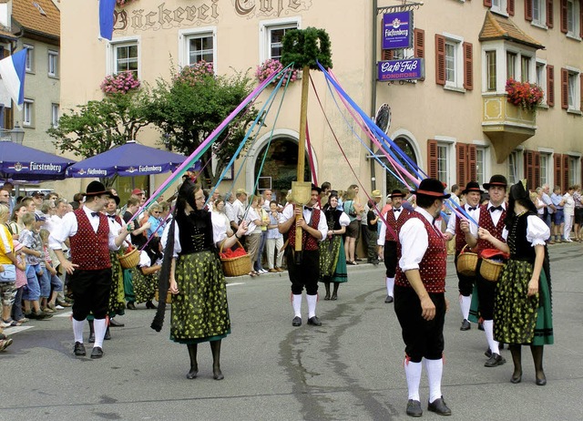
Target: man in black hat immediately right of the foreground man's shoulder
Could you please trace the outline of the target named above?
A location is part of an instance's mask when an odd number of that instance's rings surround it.
[[[452,189],[453,190],[453,189]],[[477,221],[478,209],[480,206],[480,198],[482,196],[480,185],[476,181],[470,181],[465,186],[462,194],[465,195],[465,205],[463,209],[474,221]],[[451,241],[455,236],[455,267],[457,268],[457,257],[466,245],[465,233],[461,229],[461,221],[464,218],[459,218],[455,212],[447,222],[447,229],[445,230],[445,240]],[[467,250],[469,252],[469,248]],[[476,282],[476,275],[468,276],[457,272],[457,288],[459,290],[459,305],[462,311],[462,325],[459,328],[461,331],[470,329],[469,323],[470,304],[472,303],[472,291],[474,290],[474,283]]]

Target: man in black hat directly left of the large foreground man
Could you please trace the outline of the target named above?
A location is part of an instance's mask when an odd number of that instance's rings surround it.
[[[384,303],[393,303],[394,300],[394,274],[397,270],[397,241],[399,240],[399,231],[404,222],[409,219],[409,213],[401,205],[403,203],[404,193],[401,190],[393,190],[391,193],[392,208],[384,214],[384,220],[387,226],[382,223],[379,231],[377,244],[382,247],[384,267],[386,268],[386,298]]]

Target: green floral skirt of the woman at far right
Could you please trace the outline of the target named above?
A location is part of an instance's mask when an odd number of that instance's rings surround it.
[[[509,260],[496,285],[494,338],[505,344],[553,344],[553,317],[547,277],[540,272],[538,293],[527,296],[533,264]]]

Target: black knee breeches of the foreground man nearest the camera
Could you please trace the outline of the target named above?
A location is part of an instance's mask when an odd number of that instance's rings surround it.
[[[421,316],[421,301],[413,288],[394,286],[394,313],[404,341],[404,352],[414,363],[439,360],[444,354],[445,293],[429,293],[435,304],[434,320]]]

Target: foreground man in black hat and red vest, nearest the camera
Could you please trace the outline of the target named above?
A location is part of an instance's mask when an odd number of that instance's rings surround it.
[[[436,179],[421,181],[413,191],[417,207],[399,231],[399,265],[394,279],[394,313],[405,344],[404,371],[409,400],[408,416],[422,416],[419,398],[422,360],[427,371],[429,399],[427,410],[451,415],[441,393],[444,368],[445,238],[435,227],[435,218],[450,197]]]

